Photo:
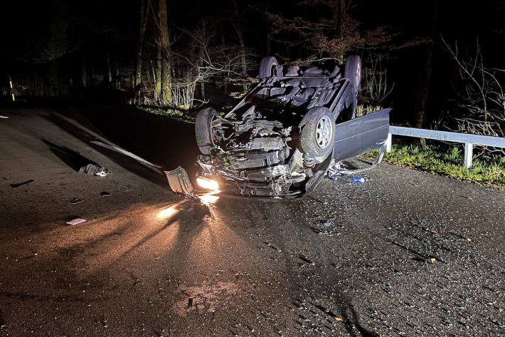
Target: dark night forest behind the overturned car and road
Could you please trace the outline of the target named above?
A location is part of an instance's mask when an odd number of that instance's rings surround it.
[[[233,105],[263,56],[363,60],[360,107],[393,123],[504,136],[503,1],[39,1],[4,11],[4,100]],[[9,88],[9,78],[14,85]]]

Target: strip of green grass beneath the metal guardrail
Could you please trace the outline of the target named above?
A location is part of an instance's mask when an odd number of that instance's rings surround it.
[[[378,151],[368,152],[365,157],[377,157]],[[386,153],[384,162],[447,175],[459,180],[468,180],[484,185],[505,188],[505,157],[475,158],[470,170],[464,168],[463,150],[458,147],[437,145],[393,145]]]

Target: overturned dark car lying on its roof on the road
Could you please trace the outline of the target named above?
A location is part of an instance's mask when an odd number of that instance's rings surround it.
[[[300,197],[341,160],[383,148],[389,109],[355,118],[360,80],[359,56],[332,70],[263,58],[260,83],[229,113],[198,112],[199,185],[245,197]],[[180,171],[167,176],[181,185]]]

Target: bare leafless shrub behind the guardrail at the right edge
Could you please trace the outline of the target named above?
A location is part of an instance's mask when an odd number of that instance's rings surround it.
[[[505,95],[502,85],[505,70],[484,66],[479,41],[474,54],[467,57],[459,53],[457,42],[450,46],[442,38],[442,43],[456,63],[463,81],[459,106],[464,115],[454,118],[458,130],[476,135],[505,137]]]

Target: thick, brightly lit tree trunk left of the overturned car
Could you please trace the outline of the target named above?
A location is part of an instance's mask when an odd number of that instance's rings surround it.
[[[170,43],[169,23],[166,11],[166,0],[159,0],[159,56],[161,56],[161,101],[164,104],[172,102],[171,73],[170,73]],[[161,52],[161,53],[160,53]]]

